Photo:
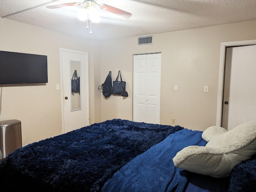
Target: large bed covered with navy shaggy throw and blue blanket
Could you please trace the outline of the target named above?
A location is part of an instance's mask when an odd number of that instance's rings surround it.
[[[200,174],[200,168],[194,171],[198,165],[186,164],[195,162],[193,158],[200,162],[198,157],[205,156],[207,145],[226,134],[223,130],[216,134],[216,129],[220,128],[192,131],[179,125],[120,119],[94,123],[10,153],[0,162],[0,188],[3,192],[256,191],[255,155],[222,176]],[[254,143],[252,137],[249,143]],[[191,154],[191,146],[200,152]]]

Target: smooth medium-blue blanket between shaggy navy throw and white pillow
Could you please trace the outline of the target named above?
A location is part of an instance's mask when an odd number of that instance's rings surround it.
[[[103,186],[102,192],[182,192],[186,171],[176,168],[172,158],[189,145],[206,145],[202,131],[182,129],[152,146],[118,170]]]

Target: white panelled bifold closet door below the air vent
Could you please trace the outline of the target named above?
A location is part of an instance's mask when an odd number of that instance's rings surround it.
[[[133,56],[133,121],[160,123],[161,53]]]

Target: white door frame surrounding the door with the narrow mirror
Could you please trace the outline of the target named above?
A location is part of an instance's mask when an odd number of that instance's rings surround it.
[[[60,81],[61,81],[61,86],[60,86],[60,91],[61,91],[61,113],[62,113],[62,133],[65,133],[65,126],[64,126],[64,93],[63,93],[63,66],[62,66],[62,51],[67,51],[67,52],[72,52],[72,53],[78,53],[78,54],[85,54],[86,55],[86,119],[88,121],[88,125],[90,125],[90,118],[89,118],[89,71],[88,71],[88,53],[84,51],[76,51],[72,49],[64,49],[60,48]]]

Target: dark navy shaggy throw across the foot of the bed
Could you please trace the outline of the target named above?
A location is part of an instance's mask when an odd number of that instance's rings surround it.
[[[1,191],[100,191],[123,165],[181,129],[114,119],[32,143],[0,163]]]

